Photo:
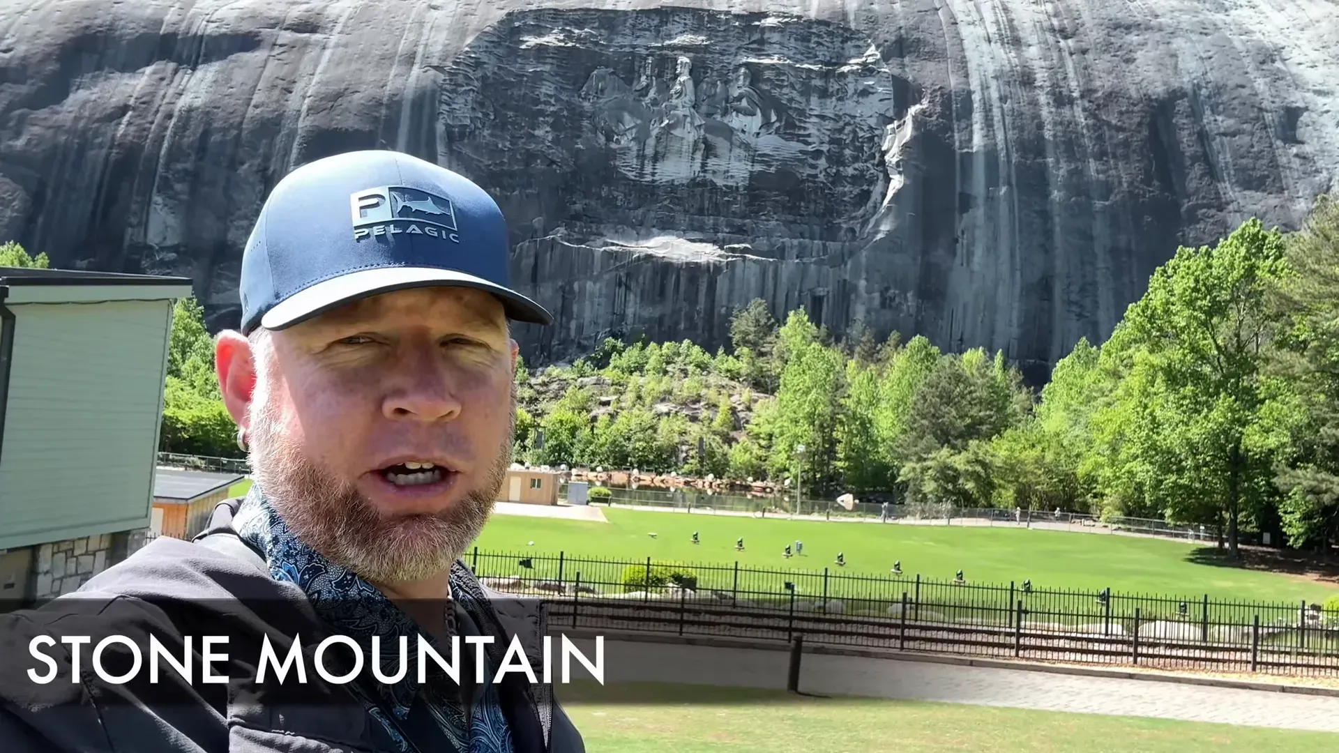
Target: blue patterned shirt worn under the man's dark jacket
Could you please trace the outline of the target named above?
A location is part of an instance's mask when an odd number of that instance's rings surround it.
[[[363,644],[366,657],[371,657],[374,635],[382,636],[382,646],[395,646],[399,636],[403,635],[408,638],[410,655],[414,655],[412,646],[416,644],[416,636],[420,631],[408,615],[371,583],[303,544],[257,488],[253,486],[246,496],[233,519],[233,528],[242,540],[265,555],[270,576],[274,580],[293,583],[301,588],[317,615],[340,634]],[[458,598],[466,599],[469,591],[455,587],[457,573],[454,571],[451,577],[453,592]],[[466,615],[469,615],[471,606],[487,608],[486,604],[462,603],[461,606],[465,607]],[[446,620],[445,614],[442,618]],[[457,624],[459,626],[461,622],[457,620]],[[469,620],[461,626],[462,632],[473,632],[466,626],[469,626]],[[432,636],[424,634],[423,638],[439,654],[449,655]],[[465,653],[463,640],[462,653]],[[473,655],[473,653],[470,654]],[[394,675],[399,669],[398,665],[398,651],[383,651],[383,671],[386,674]],[[465,674],[462,671],[462,683]],[[430,682],[424,687],[419,687],[418,673],[412,669],[406,671],[404,677],[395,685],[380,685],[378,687],[379,702],[367,703],[367,711],[396,741],[399,753],[408,753],[415,746],[402,737],[398,730],[399,725],[391,724],[386,718],[386,713],[394,714],[398,721],[403,722],[410,713],[414,698],[422,691],[432,718],[458,752],[511,753],[511,732],[502,713],[498,690],[493,683],[493,673],[486,669],[483,674],[486,685],[477,689],[469,720],[466,720],[466,706],[461,702],[454,685],[441,687],[441,683],[431,682],[430,677]],[[423,750],[422,753],[430,752]]]

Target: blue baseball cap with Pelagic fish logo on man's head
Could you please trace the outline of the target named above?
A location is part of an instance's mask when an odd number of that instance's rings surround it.
[[[511,289],[509,252],[502,210],[465,177],[399,151],[325,157],[285,176],[261,206],[242,252],[241,331],[420,287],[478,288],[510,319],[552,324]]]

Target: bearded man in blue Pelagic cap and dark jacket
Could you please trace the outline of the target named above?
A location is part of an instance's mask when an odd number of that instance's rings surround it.
[[[291,646],[300,630],[360,646],[423,635],[443,657],[451,636],[494,636],[482,685],[466,669],[459,685],[411,670],[398,682],[317,679],[300,697],[244,682],[91,678],[72,690],[23,685],[9,666],[0,749],[582,752],[550,686],[493,682],[509,635],[533,648],[542,614],[487,592],[459,559],[510,465],[507,320],[552,323],[509,288],[507,255],[497,204],[437,165],[358,151],[292,172],[242,256],[241,330],[216,344],[252,492],[220,505],[197,543],[158,539],[90,580],[79,595],[102,599],[96,615],[70,616],[62,599],[7,626],[24,638],[217,626],[230,647],[262,635]]]

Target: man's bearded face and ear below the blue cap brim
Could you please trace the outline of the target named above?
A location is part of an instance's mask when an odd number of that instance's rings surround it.
[[[374,583],[447,569],[511,460],[516,343],[501,303],[416,288],[266,336],[245,409],[266,498],[308,545]]]

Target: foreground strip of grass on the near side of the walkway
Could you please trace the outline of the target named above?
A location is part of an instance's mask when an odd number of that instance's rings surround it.
[[[558,686],[590,753],[1311,753],[1339,736],[956,703],[670,685]]]

